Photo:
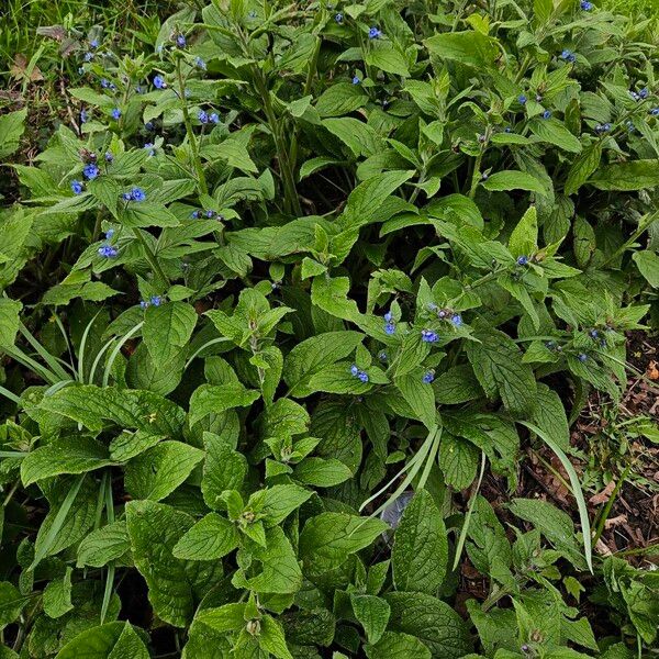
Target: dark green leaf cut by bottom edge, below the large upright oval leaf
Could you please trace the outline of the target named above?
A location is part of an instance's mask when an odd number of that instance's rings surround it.
[[[416,636],[433,659],[460,659],[471,651],[471,639],[462,618],[445,602],[425,593],[389,593],[389,628]]]

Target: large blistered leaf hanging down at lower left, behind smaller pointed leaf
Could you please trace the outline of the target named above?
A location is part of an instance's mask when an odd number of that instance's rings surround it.
[[[192,526],[192,517],[161,503],[130,501],[126,523],[135,567],[146,580],[155,613],[175,627],[186,627],[194,612],[192,588],[186,562],[172,549]]]

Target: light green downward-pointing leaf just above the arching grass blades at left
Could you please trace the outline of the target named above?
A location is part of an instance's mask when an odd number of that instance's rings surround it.
[[[156,365],[167,364],[183,348],[197,324],[194,308],[185,302],[150,304],[144,314],[142,334]]]

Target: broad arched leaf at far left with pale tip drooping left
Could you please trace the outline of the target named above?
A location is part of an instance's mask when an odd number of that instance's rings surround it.
[[[63,437],[29,453],[21,462],[25,487],[60,473],[85,473],[111,465],[108,447],[91,437]]]

